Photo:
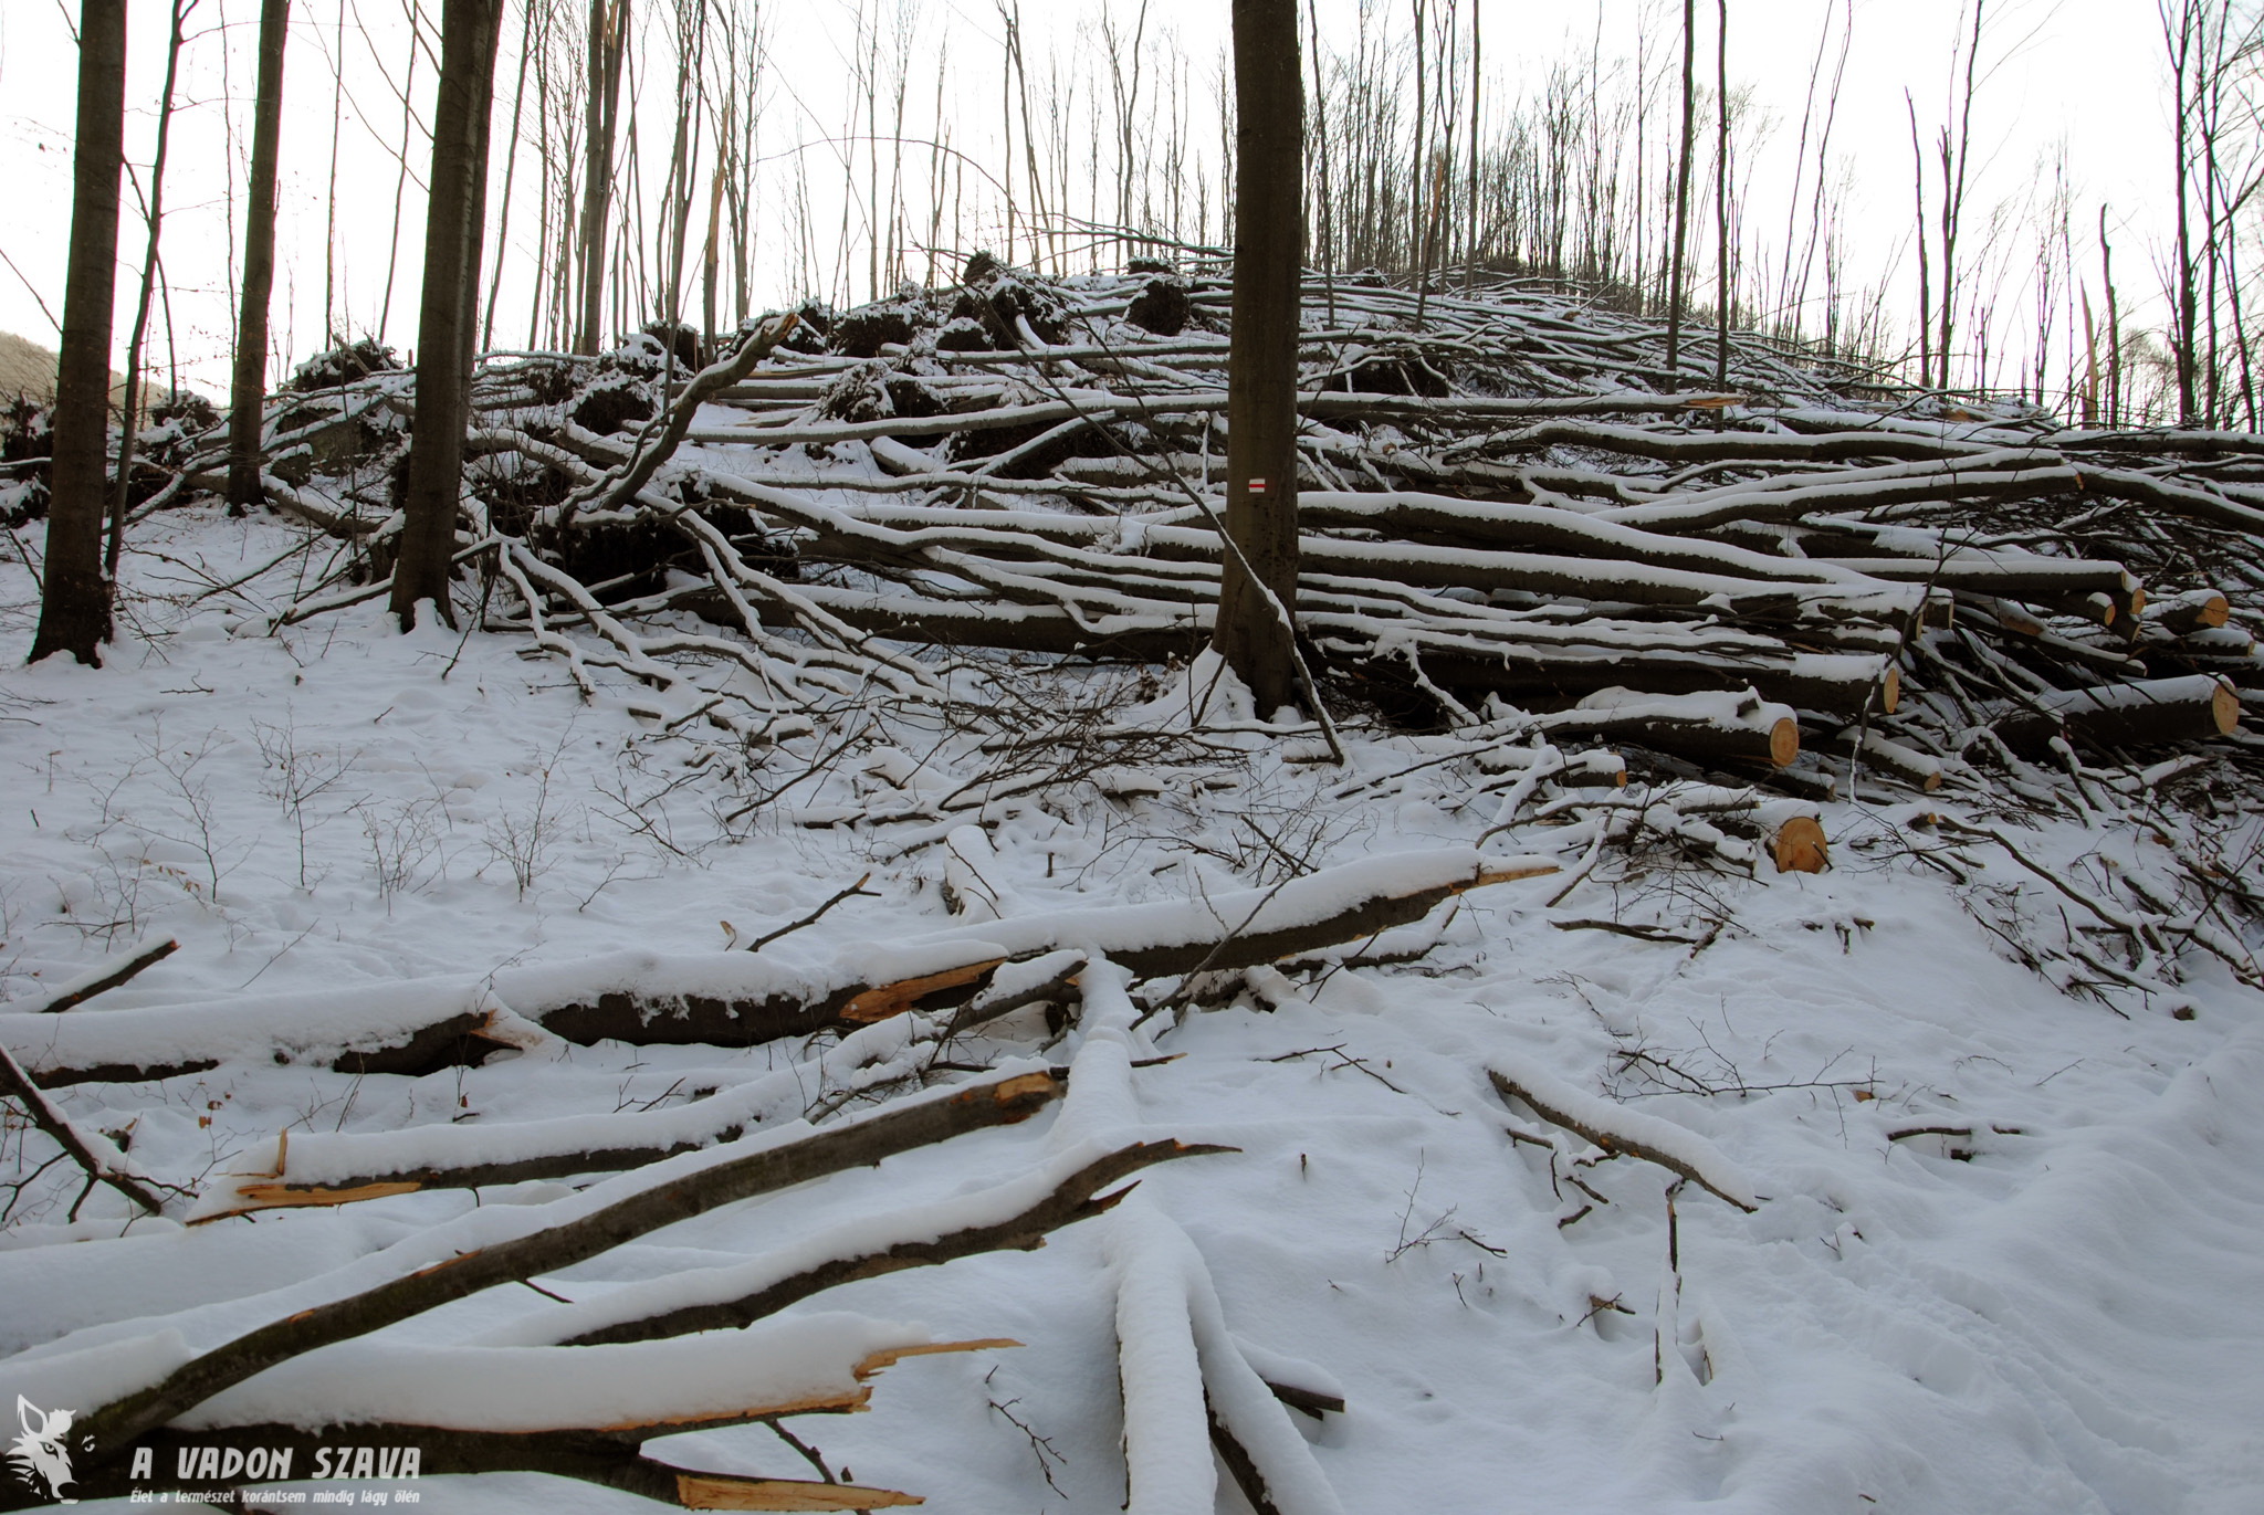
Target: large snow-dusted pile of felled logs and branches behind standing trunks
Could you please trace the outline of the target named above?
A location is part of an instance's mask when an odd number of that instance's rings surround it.
[[[509,591],[489,625],[740,747],[865,697],[980,709],[946,670],[1001,654],[1186,659],[1225,326],[1216,269],[978,256],[688,378],[652,335],[496,358],[462,553]],[[2257,684],[2257,437],[2067,430],[1759,337],[1721,392],[1673,392],[1650,324],[1508,285],[1417,324],[1404,290],[1315,276],[1302,367],[1297,618],[1340,716],[1517,711],[1825,797],[2160,756],[2232,736]],[[378,577],[288,618],[383,587],[408,383],[278,408],[272,498]]]

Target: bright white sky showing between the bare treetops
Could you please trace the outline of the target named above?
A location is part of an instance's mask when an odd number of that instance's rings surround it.
[[[577,2],[577,0],[571,0]],[[874,0],[881,2],[881,0]],[[899,5],[903,0],[885,0]],[[1320,0],[1324,38],[1352,34],[1358,0]],[[1406,29],[1406,0],[1370,0]],[[1440,0],[1431,0],[1438,9]],[[1465,0],[1465,7],[1472,0]],[[410,0],[294,0],[294,32],[285,66],[283,204],[274,326],[278,344],[299,358],[317,344],[324,279],[324,181],[331,152],[333,63],[331,48],[340,5],[349,7],[344,36],[344,109],[340,147],[340,247],[344,308],[355,333],[376,328],[385,308],[383,288],[392,242],[396,165],[392,145],[401,134],[401,106],[376,59],[398,77],[408,50],[403,23]],[[659,0],[643,0],[659,11]],[[1130,20],[1137,0],[1114,0],[1118,20]],[[437,0],[426,0],[437,16]],[[1026,0],[1028,54],[1032,68],[1046,45],[1069,45],[1073,27],[1091,20],[1100,0]],[[1700,5],[1703,68],[1712,68],[1712,5]],[[516,7],[514,7],[516,11]],[[815,5],[774,2],[772,52],[781,63],[767,100],[765,147],[783,149],[795,136],[822,138],[844,118],[842,41],[851,29],[851,0]],[[1517,88],[1540,77],[1567,54],[1585,57],[1598,23],[1605,54],[1632,52],[1635,18],[1653,18],[1653,48],[1671,45],[1680,7],[1671,0],[1483,0],[1487,72],[1494,88]],[[1798,131],[1802,93],[1816,48],[1816,29],[1834,0],[1732,0],[1732,88],[1752,86],[1761,109],[1777,120],[1773,149],[1789,154]],[[1988,217],[1997,202],[2024,197],[2038,161],[2065,140],[2076,165],[2076,222],[2096,226],[2101,202],[2110,206],[2117,236],[2117,283],[2126,308],[2158,285],[2155,265],[2167,226],[2169,129],[2167,70],[2153,5],[2146,0],[1997,0],[1990,5],[1990,41],[1983,63],[1995,66],[1974,106],[1976,181],[1970,190],[1970,224]],[[933,97],[933,59],[949,34],[955,82],[946,109],[967,102],[953,140],[976,156],[996,156],[996,9],[983,0],[924,0],[917,5],[912,113],[924,131]],[[1209,88],[1209,70],[1225,45],[1227,7],[1218,0],[1150,0],[1150,29],[1175,29],[1193,61],[1195,88]],[[1958,29],[1956,0],[1856,0],[1854,52],[1841,100],[1836,152],[1856,174],[1856,226],[1852,276],[1875,281],[1895,260],[1909,226],[1911,147],[1902,93],[1918,97],[1920,127],[1943,120],[1949,106],[1949,50]],[[365,25],[367,23],[367,25]],[[134,0],[129,14],[129,156],[147,161],[156,127],[163,77],[165,0]],[[172,331],[186,374],[206,392],[226,387],[224,353],[231,333],[226,267],[240,224],[229,224],[231,179],[240,190],[242,152],[249,131],[254,34],[258,0],[197,0],[190,16],[190,48],[183,57],[181,100],[174,118],[172,168],[168,174],[165,267],[172,285]],[[507,95],[516,66],[516,14],[505,23],[498,95]],[[652,48],[659,50],[654,34]],[[70,211],[70,136],[77,54],[68,32],[66,0],[0,0],[0,165],[9,186],[9,211],[0,217],[0,328],[54,344],[54,326],[41,310],[61,313],[63,254]],[[928,79],[921,84],[921,70]],[[417,93],[428,97],[430,63],[419,66]],[[652,86],[666,95],[666,79]],[[505,106],[507,109],[507,106]],[[652,111],[659,109],[654,115]],[[362,115],[367,111],[367,118]],[[1198,106],[1200,111],[1200,106]],[[666,125],[666,102],[648,102],[657,131]],[[503,134],[498,115],[496,181],[500,195]],[[1202,127],[1198,125],[1198,138]],[[383,140],[380,140],[383,138]],[[233,143],[233,174],[229,172]],[[648,145],[648,154],[654,149]],[[813,154],[824,154],[815,147]],[[410,163],[421,174],[426,145],[412,143]],[[661,154],[663,156],[663,154]],[[1986,163],[1981,161],[1986,156]],[[1764,159],[1766,163],[1766,159]],[[1782,222],[1782,188],[1773,204],[1770,172],[1764,168],[1755,213]],[[659,177],[650,168],[650,177]],[[924,170],[917,170],[924,172]],[[813,163],[813,195],[824,195],[838,168]],[[532,226],[521,159],[518,233]],[[120,233],[118,349],[125,351],[131,303],[138,290],[143,229],[127,197]],[[838,202],[833,202],[838,206]],[[783,303],[795,290],[783,267],[783,206],[765,206],[758,281],[763,303]],[[815,217],[826,224],[826,215]],[[2081,233],[2078,233],[2081,236]],[[969,236],[974,242],[976,238]],[[414,340],[417,260],[421,247],[421,199],[408,190],[394,292],[383,337],[396,346]],[[2078,242],[2078,267],[2096,274],[2096,242]],[[507,265],[498,340],[523,337],[528,285],[521,265],[528,249]],[[1909,258],[1899,276],[1911,279]],[[20,274],[20,276],[18,276]],[[516,279],[514,279],[516,276]],[[516,283],[516,299],[514,299]],[[36,292],[36,299],[34,299]],[[1909,299],[1899,303],[1911,303]],[[165,317],[152,317],[154,353],[163,362]]]

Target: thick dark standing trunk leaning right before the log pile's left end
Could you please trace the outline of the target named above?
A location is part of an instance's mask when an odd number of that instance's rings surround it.
[[[423,308],[417,319],[417,423],[410,433],[410,485],[394,559],[392,609],[403,630],[414,625],[419,600],[432,600],[453,625],[448,568],[464,487],[480,220],[487,204],[487,115],[494,104],[500,23],[503,0],[446,0],[441,7]]]

